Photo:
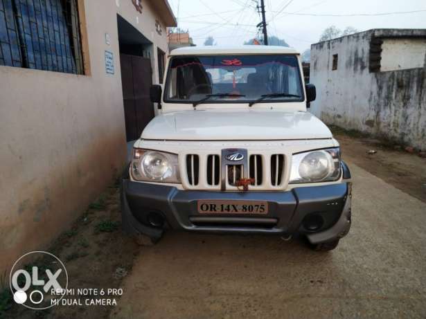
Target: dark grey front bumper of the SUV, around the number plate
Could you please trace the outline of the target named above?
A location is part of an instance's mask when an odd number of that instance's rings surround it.
[[[345,176],[344,176],[345,177]],[[350,175],[348,175],[350,177]],[[200,215],[197,201],[267,201],[267,215]],[[209,192],[178,190],[167,185],[122,179],[121,211],[126,233],[159,239],[163,228],[204,233],[305,234],[312,244],[344,237],[350,228],[350,182],[294,188],[287,192]],[[322,219],[316,230],[305,227],[313,215]],[[164,224],[152,226],[151,217]]]

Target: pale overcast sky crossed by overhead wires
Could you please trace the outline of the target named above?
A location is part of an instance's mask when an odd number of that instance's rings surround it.
[[[220,46],[229,46],[243,44],[258,35],[256,24],[262,20],[256,3],[260,0],[168,1],[179,28],[188,29],[197,46],[202,46],[208,36]],[[424,11],[377,15],[418,10]],[[359,31],[426,28],[426,0],[265,0],[265,11],[268,35],[285,39],[300,52],[318,42],[328,26],[342,30],[352,26]]]

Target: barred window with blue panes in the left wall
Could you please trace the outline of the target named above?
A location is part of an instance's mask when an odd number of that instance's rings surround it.
[[[78,0],[1,0],[0,65],[84,74]]]

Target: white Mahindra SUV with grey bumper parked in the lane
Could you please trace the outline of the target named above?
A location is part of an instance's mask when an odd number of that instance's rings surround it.
[[[306,108],[300,55],[281,46],[170,53],[159,115],[134,143],[122,180],[123,228],[305,235],[330,250],[350,228],[350,172]]]

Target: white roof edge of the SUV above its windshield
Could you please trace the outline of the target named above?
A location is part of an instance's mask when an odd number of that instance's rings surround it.
[[[220,54],[299,54],[286,46],[186,46],[175,48],[170,55],[220,55]]]

